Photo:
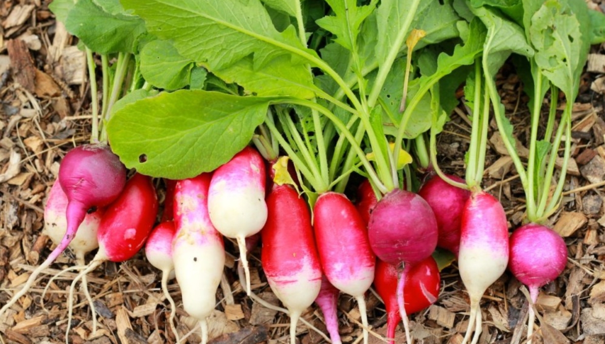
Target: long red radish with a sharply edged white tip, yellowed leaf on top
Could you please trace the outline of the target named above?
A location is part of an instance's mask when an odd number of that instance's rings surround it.
[[[290,343],[296,323],[319,295],[321,266],[307,203],[289,185],[274,185],[261,231],[261,261],[267,281],[290,313]]]

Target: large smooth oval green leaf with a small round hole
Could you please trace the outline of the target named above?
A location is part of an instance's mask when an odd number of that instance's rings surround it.
[[[128,168],[169,179],[194,177],[229,161],[263,123],[270,98],[219,92],[163,92],[111,116],[111,148]]]

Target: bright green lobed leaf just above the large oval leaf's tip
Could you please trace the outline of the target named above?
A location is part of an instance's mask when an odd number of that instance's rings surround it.
[[[225,69],[214,71],[214,74],[227,83],[239,84],[247,94],[292,95],[310,99],[319,91],[313,84],[309,68],[293,65],[287,56],[277,57],[256,71],[252,66],[252,57],[246,57]]]

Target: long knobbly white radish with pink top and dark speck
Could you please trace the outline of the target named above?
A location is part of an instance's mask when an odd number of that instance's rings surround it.
[[[183,296],[183,308],[200,322],[201,341],[208,342],[208,320],[216,304],[223,275],[224,243],[208,214],[211,174],[178,180],[174,190],[172,240],[174,272]]]

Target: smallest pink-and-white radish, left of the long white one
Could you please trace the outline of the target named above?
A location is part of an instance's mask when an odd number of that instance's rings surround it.
[[[172,296],[168,292],[168,281],[175,277],[174,261],[172,260],[172,240],[175,233],[174,221],[163,221],[155,226],[145,243],[145,256],[152,266],[162,271],[162,291],[172,308],[168,321],[178,343],[180,340],[177,329],[174,326],[174,315],[177,308]]]

